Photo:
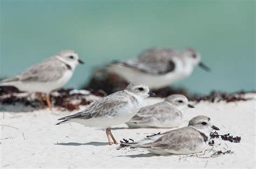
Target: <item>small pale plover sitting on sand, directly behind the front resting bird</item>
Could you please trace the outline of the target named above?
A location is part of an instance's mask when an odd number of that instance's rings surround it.
[[[170,95],[163,102],[141,108],[126,124],[130,128],[174,128],[183,121],[183,109],[194,108],[184,95]]]

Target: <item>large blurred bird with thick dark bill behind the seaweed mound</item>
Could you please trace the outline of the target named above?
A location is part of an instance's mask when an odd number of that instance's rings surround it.
[[[210,71],[201,62],[200,54],[192,48],[181,52],[171,48],[150,48],[137,58],[109,64],[109,71],[122,76],[128,82],[141,81],[149,88],[158,89],[187,78],[197,65]]]

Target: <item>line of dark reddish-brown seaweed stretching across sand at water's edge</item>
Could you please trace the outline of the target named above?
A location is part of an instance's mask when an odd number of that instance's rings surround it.
[[[93,74],[89,85],[82,87],[83,89],[87,89],[91,91],[91,94],[96,96],[104,96],[103,93],[111,94],[119,90],[123,90],[128,83],[120,78],[116,74],[107,74],[106,71],[96,71]],[[90,101],[87,101],[83,94],[73,94],[70,95],[69,89],[59,89],[57,90],[60,94],[59,96],[51,95],[51,102],[55,107],[60,108],[61,110],[76,110],[79,108],[79,105],[87,105],[90,104]],[[104,92],[103,92],[104,91]],[[251,98],[245,98],[243,94],[245,91],[239,91],[237,93],[225,93],[220,91],[211,91],[210,94],[201,96],[199,94],[191,95],[185,88],[171,88],[165,87],[158,90],[153,90],[154,93],[157,94],[158,97],[167,97],[171,94],[183,94],[191,101],[209,101],[209,102],[220,102],[226,101],[228,102],[236,102],[236,101],[246,101]],[[251,93],[255,93],[256,91],[250,91]],[[38,104],[38,99],[30,100],[26,97],[16,97],[12,94],[21,93],[17,88],[5,86],[0,87],[0,96],[10,94],[9,97],[0,97],[0,104],[15,104],[15,103],[23,103],[24,105],[30,105],[33,108],[40,108]],[[71,103],[72,100],[80,100],[80,102],[74,104]]]

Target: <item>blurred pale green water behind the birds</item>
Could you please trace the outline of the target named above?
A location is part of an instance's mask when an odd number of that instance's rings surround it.
[[[192,92],[255,90],[255,1],[3,1],[1,77],[63,49],[79,65],[66,87],[93,68],[149,47],[196,48],[212,72],[196,68],[174,86]]]

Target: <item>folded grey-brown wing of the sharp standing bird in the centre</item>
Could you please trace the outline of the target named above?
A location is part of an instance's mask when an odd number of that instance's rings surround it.
[[[104,116],[114,116],[119,109],[122,109],[129,102],[127,97],[117,95],[116,93],[102,98],[89,108],[76,114],[59,118],[61,119],[91,119]]]

